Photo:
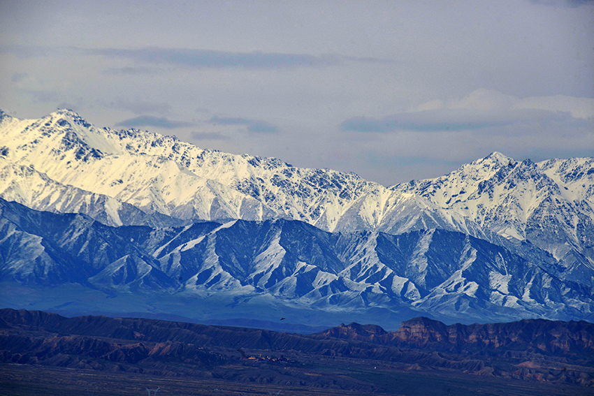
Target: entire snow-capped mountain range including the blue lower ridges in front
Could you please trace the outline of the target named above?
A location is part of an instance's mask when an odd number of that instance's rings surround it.
[[[387,188],[100,129],[59,110],[36,120],[0,112],[0,175],[0,274],[20,284],[267,295],[321,310],[489,321],[594,309],[594,158],[516,162],[495,152]],[[53,214],[8,210],[10,201]],[[122,250],[107,238],[103,254],[85,251],[97,227],[136,242]]]

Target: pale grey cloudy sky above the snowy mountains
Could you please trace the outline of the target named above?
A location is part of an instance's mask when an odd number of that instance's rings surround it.
[[[594,156],[594,1],[0,0],[0,109],[391,186]]]

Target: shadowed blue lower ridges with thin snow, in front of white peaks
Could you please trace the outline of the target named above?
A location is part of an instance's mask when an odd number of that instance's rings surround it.
[[[594,309],[591,288],[447,230],[327,233],[284,219],[112,228],[0,200],[0,257],[3,282],[80,284],[110,295],[168,295],[170,302],[178,296],[189,317],[207,296],[320,311],[407,309],[463,321],[587,319]],[[64,295],[59,305],[81,298]],[[154,309],[167,306],[153,302]]]

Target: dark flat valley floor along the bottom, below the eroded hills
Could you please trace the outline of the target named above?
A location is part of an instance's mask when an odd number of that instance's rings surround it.
[[[0,396],[132,396],[147,395],[147,388],[159,388],[159,396],[592,395],[592,388],[580,386],[465,375],[420,367],[410,369],[410,366],[386,365],[374,360],[313,359],[296,366],[263,362],[228,365],[217,372],[217,375],[228,376],[228,380],[2,364]],[[283,384],[283,378],[291,374],[305,374],[311,380]],[[298,376],[303,378],[303,375]]]

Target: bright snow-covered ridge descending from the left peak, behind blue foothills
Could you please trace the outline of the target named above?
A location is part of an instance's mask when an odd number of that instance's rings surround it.
[[[456,229],[465,223],[456,214],[444,217],[422,197],[394,193],[352,173],[199,149],[134,129],[97,129],[70,110],[23,121],[5,114],[0,129],[6,161],[146,213],[182,220],[282,217],[324,230],[403,232],[428,226]],[[52,210],[49,205],[45,209]],[[120,222],[117,217],[111,221]]]

